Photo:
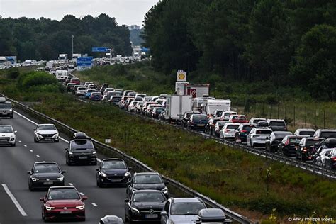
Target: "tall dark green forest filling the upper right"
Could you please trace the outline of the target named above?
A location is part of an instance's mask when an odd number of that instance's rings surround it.
[[[336,1],[161,0],[145,15],[156,69],[301,86],[336,99]]]

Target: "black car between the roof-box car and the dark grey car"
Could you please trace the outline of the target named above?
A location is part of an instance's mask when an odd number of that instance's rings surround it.
[[[96,169],[97,186],[127,184],[131,177],[130,169],[123,159],[103,159]]]

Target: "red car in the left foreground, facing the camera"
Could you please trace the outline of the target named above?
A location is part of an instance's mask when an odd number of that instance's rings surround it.
[[[40,198],[43,220],[77,219],[85,221],[86,196],[81,196],[74,186],[51,186]]]

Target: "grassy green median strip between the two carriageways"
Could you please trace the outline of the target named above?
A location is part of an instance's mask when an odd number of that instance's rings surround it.
[[[147,68],[141,69],[146,71]],[[99,73],[91,70],[90,80],[95,74]],[[111,82],[108,77],[101,74],[101,82]],[[8,80],[7,74],[2,73],[0,80]],[[43,88],[39,91],[17,89],[21,79],[16,80],[1,85],[1,91],[20,101],[39,101],[33,104],[36,110],[98,140],[111,138],[113,147],[249,218],[260,220],[275,215],[281,221],[293,216],[294,211],[295,215],[303,216],[336,215],[335,181],[220,145],[170,125],[130,116],[108,103],[80,103],[71,94]],[[125,79],[124,82],[132,81]],[[147,82],[156,86],[156,81],[147,79]],[[152,89],[152,93],[155,91]]]

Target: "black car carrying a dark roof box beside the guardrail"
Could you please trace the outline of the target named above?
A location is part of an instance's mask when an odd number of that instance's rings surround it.
[[[69,147],[65,149],[65,163],[68,165],[86,163],[97,164],[96,150],[91,139],[84,136],[85,133],[75,133],[69,141]]]

